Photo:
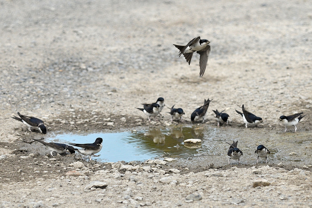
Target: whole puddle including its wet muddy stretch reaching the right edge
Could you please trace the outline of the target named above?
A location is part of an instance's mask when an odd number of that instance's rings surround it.
[[[92,133],[88,135],[61,134],[54,135],[48,140],[59,143],[93,143],[95,138],[103,138],[103,148],[97,153],[100,157],[93,157],[101,162],[117,161],[144,161],[155,157],[180,158],[179,161],[189,164],[207,166],[227,165],[227,150],[229,145],[238,140],[238,148],[243,152],[242,164],[256,163],[255,150],[259,144],[263,144],[270,151],[268,162],[279,164],[310,164],[312,153],[307,152],[311,148],[312,133],[278,133],[276,131],[264,131],[261,128],[239,128],[230,126],[224,128],[158,128],[145,131],[132,131],[121,133]],[[184,144],[189,138],[198,138],[202,143],[197,145]],[[296,155],[289,155],[296,152]],[[259,158],[259,162],[265,160]],[[237,164],[237,160],[231,160],[231,164]]]

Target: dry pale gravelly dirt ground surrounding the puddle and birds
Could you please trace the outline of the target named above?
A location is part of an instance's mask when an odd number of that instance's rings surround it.
[[[309,1],[0,0],[0,207],[311,207],[311,11]],[[196,36],[211,42],[203,77],[198,54],[188,65],[172,45]],[[134,108],[158,97],[183,108],[185,125],[213,99],[210,110],[230,114],[230,126],[220,129],[234,129],[233,138],[246,143],[270,141],[283,133],[281,115],[304,112],[297,132],[290,127],[278,143],[293,143],[296,152],[295,139],[305,135],[305,159],[266,166],[214,165],[209,157],[115,164],[52,158],[32,146],[41,134],[10,118],[17,111],[41,118],[44,137],[170,128],[168,114],[150,123]],[[264,122],[245,129],[236,104]],[[212,111],[207,119],[198,125],[216,127]],[[259,176],[270,185],[253,187]],[[86,188],[92,181],[106,187]],[[189,200],[193,193],[202,199]]]

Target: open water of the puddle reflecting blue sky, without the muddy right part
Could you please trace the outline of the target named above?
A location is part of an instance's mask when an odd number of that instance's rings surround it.
[[[154,157],[190,157],[205,148],[199,144],[184,144],[190,138],[205,140],[212,131],[181,127],[121,133],[92,133],[88,135],[60,134],[48,140],[57,143],[93,143],[103,138],[103,148],[97,153],[102,162],[143,161]]]

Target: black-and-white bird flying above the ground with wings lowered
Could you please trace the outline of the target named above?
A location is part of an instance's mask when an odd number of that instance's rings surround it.
[[[194,52],[197,52],[199,54],[199,76],[202,77],[204,75],[207,61],[210,53],[210,41],[206,39],[200,39],[200,36],[197,36],[193,40],[189,41],[189,43],[186,46],[179,46],[173,44],[176,48],[180,50],[179,57],[183,54],[186,61],[188,62],[188,65],[191,64],[191,59]]]

